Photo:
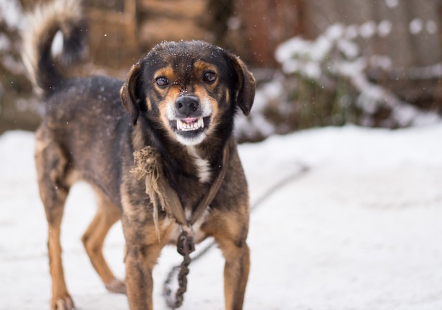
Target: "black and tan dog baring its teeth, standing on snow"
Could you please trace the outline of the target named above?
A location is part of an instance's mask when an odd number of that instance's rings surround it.
[[[225,309],[242,309],[250,264],[249,194],[233,126],[238,111],[251,110],[253,75],[227,50],[180,41],[148,51],[126,81],[68,77],[63,72],[68,61],[84,50],[83,16],[77,1],[56,0],[28,16],[23,34],[23,61],[45,106],[35,161],[48,222],[51,309],[74,309],[61,262],[60,226],[69,189],[78,180],[98,197],[97,213],[82,237],[93,267],[109,291],[127,294],[131,310],[153,309],[152,270],[162,248],[176,243],[180,225],[164,206],[153,204],[148,182],[133,175],[134,153],[146,146],[160,154],[160,174],[187,220],[224,165],[218,191],[191,229],[196,242],[207,237],[217,242],[225,258]],[[61,55],[53,52],[57,32],[63,33]],[[115,278],[102,253],[106,233],[120,219],[125,281]]]

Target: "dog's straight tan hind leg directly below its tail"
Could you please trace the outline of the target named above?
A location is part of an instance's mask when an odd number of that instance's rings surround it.
[[[41,201],[48,220],[48,255],[52,278],[51,310],[71,310],[74,303],[66,288],[61,262],[60,226],[69,187],[64,182],[66,157],[61,149],[41,131],[37,133],[35,152]]]

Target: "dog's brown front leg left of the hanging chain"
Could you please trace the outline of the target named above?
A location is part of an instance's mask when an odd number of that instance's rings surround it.
[[[126,286],[131,310],[153,309],[152,270],[160,255],[159,244],[130,246],[126,253]]]

